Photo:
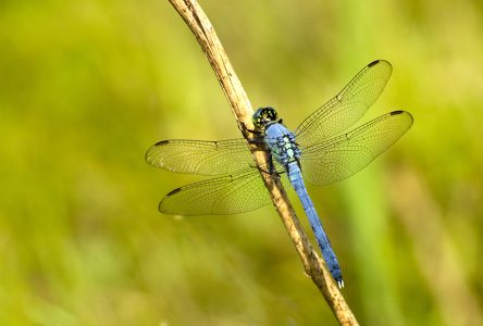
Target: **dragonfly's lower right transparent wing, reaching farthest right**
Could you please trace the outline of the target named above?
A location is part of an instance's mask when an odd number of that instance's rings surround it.
[[[411,125],[411,114],[394,111],[347,134],[301,148],[304,175],[314,185],[345,179],[388,149]]]

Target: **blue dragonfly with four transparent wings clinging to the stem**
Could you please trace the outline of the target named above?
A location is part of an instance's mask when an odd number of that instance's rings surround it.
[[[339,263],[305,180],[330,185],[345,179],[371,163],[411,127],[413,118],[409,112],[393,111],[347,131],[379,98],[392,72],[385,60],[369,63],[294,133],[278,120],[275,109],[258,109],[252,116],[256,129],[251,131],[259,135],[261,150],[269,152],[267,170],[253,165],[245,138],[159,141],[146,153],[148,164],[175,173],[214,176],[174,189],[161,200],[159,211],[184,216],[252,211],[272,202],[260,173],[275,173],[284,186],[294,188],[332,277],[339,288],[344,287]]]

